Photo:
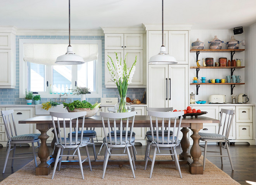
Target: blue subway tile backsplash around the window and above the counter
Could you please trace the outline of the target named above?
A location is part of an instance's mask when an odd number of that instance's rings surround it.
[[[66,35],[17,35],[16,36],[16,88],[15,89],[6,89],[0,88],[0,104],[1,105],[20,105],[26,104],[26,99],[19,98],[19,39],[68,39],[69,36]],[[104,36],[71,36],[73,40],[102,40],[102,97],[118,97],[117,88],[105,88],[105,50]],[[132,97],[132,94],[136,94],[136,98],[142,99],[142,96],[145,92],[145,88],[128,88],[127,97]],[[58,95],[56,95],[58,97]],[[40,103],[53,100],[52,98],[42,98]],[[71,101],[79,100],[78,98],[72,98]],[[96,101],[100,102],[100,98],[88,98],[88,101],[94,104]],[[67,102],[70,102],[70,99],[67,99]]]

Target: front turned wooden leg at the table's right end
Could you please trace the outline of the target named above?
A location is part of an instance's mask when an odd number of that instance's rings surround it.
[[[192,129],[193,134],[190,136],[193,139],[193,145],[190,149],[190,155],[192,156],[193,163],[189,164],[189,172],[191,174],[203,174],[203,166],[199,163],[199,158],[202,154],[202,151],[199,147],[198,140],[200,135],[198,134],[201,129]]]

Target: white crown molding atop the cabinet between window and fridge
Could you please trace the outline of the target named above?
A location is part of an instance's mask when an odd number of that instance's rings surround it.
[[[106,33],[145,33],[142,27],[100,27]]]

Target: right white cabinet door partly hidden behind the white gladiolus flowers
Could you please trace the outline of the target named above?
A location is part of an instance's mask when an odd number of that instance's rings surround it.
[[[143,50],[125,50],[127,66],[131,68],[137,56],[136,68],[130,85],[143,85]]]

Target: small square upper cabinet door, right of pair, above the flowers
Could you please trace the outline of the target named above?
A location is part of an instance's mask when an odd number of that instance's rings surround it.
[[[143,49],[143,34],[131,33],[124,34],[124,46],[127,50],[142,50]]]

